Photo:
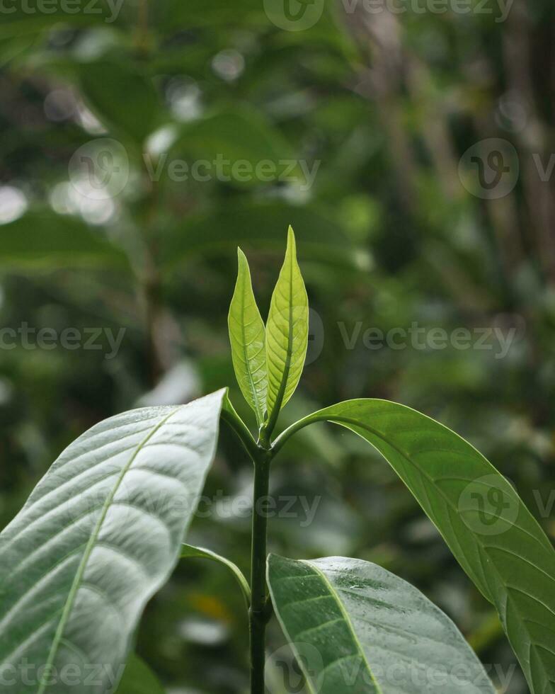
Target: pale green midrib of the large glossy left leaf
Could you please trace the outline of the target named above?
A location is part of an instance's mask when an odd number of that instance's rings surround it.
[[[108,497],[106,498],[106,501],[104,502],[102,506],[102,511],[100,516],[98,517],[98,521],[95,525],[95,528],[93,529],[93,532],[91,533],[91,537],[89,538],[87,545],[85,547],[85,551],[83,554],[83,557],[81,559],[81,563],[79,564],[79,567],[77,569],[77,572],[75,574],[75,578],[73,583],[71,584],[71,588],[69,589],[69,594],[67,596],[67,601],[64,605],[64,610],[62,612],[62,617],[59,620],[57,630],[54,636],[54,640],[52,641],[52,646],[50,647],[50,652],[48,654],[48,658],[46,661],[45,665],[45,673],[49,672],[52,669],[52,665],[54,664],[55,657],[57,655],[57,651],[59,648],[59,644],[62,641],[62,637],[64,635],[64,630],[65,627],[67,626],[67,622],[69,622],[69,618],[71,616],[71,610],[73,609],[75,598],[77,595],[77,591],[79,591],[79,587],[81,584],[81,581],[83,579],[84,573],[86,566],[88,564],[88,559],[91,558],[91,554],[93,552],[94,546],[96,545],[96,541],[98,540],[98,535],[100,534],[102,525],[104,523],[104,520],[106,516],[108,515],[108,510],[110,506],[112,505],[113,499],[115,497],[115,494],[118,492],[118,489],[120,488],[120,485],[123,481],[123,478],[125,477],[125,474],[129,472],[130,467],[133,465],[133,462],[135,462],[137,455],[139,455],[139,452],[142,450],[144,445],[147,444],[147,442],[154,436],[154,434],[159,431],[159,429],[164,426],[164,424],[170,419],[178,409],[172,410],[164,419],[159,421],[159,423],[154,426],[151,431],[145,436],[145,438],[137,445],[137,448],[135,448],[135,452],[133,455],[130,457],[130,460],[126,463],[126,465],[122,468],[122,471],[120,472],[120,475],[118,476],[118,479],[115,482],[115,485],[110,491],[110,494],[108,494]],[[40,682],[37,694],[44,694],[45,689],[47,688],[48,684],[42,680]]]

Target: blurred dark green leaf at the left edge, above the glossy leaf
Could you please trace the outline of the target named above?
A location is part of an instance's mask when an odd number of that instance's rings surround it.
[[[33,210],[0,226],[0,265],[11,269],[128,266],[121,249],[75,217]]]

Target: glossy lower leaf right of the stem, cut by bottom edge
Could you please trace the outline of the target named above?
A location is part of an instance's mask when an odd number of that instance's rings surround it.
[[[495,693],[450,618],[376,564],[270,555],[268,584],[311,691]]]

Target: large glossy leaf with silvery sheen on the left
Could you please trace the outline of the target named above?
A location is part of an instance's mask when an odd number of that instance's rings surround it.
[[[144,605],[178,561],[223,397],[93,426],[1,533],[0,671],[12,694],[113,691]],[[39,682],[41,666],[52,676]]]

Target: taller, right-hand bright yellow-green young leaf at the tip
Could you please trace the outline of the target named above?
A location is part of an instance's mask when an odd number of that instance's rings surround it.
[[[268,428],[294,393],[304,366],[309,337],[309,301],[297,263],[293,229],[287,234],[285,261],[277,279],[266,324]]]

